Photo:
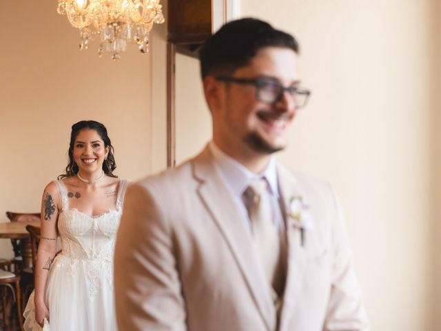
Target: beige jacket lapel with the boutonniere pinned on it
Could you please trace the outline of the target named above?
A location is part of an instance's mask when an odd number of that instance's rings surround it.
[[[285,218],[287,235],[287,277],[285,283],[285,292],[283,296],[283,305],[280,312],[279,330],[289,329],[289,317],[291,312],[299,303],[300,289],[307,264],[307,254],[301,244],[300,230],[296,228],[292,220],[287,217],[287,210],[291,197],[304,197],[294,174],[286,168],[278,165],[278,185],[282,199],[282,212]]]

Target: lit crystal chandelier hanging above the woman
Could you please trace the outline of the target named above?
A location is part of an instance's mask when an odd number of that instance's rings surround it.
[[[148,51],[149,32],[153,23],[163,23],[160,0],[59,0],[57,12],[80,30],[80,49],[99,36],[99,57],[110,52],[112,59],[121,59],[127,43]]]

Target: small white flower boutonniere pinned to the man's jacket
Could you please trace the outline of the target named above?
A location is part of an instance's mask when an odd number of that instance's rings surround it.
[[[309,205],[303,201],[301,196],[291,197],[287,216],[289,224],[300,230],[300,243],[302,246],[305,245],[305,230],[311,230],[314,227]]]

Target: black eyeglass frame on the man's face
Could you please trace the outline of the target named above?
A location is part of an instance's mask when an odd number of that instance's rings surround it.
[[[303,102],[302,105],[298,106],[296,105],[296,108],[305,108],[305,106],[308,103],[309,100],[309,96],[311,95],[311,91],[307,90],[306,88],[298,88],[296,86],[288,86],[285,87],[282,84],[278,83],[278,81],[274,81],[274,80],[269,80],[269,79],[265,79],[265,78],[254,78],[254,79],[247,79],[247,78],[236,78],[236,77],[228,77],[228,76],[217,76],[214,77],[215,79],[217,79],[218,81],[225,81],[227,83],[237,83],[237,84],[242,84],[242,85],[253,85],[256,87],[256,99],[258,101],[262,101],[265,103],[269,103],[269,104],[274,104],[278,101],[280,101],[280,99],[282,99],[283,94],[285,93],[285,91],[287,91],[291,97],[294,97],[294,93],[296,94],[300,94],[302,96],[305,97],[305,101]],[[280,88],[280,92],[278,93],[278,96],[276,97],[276,99],[272,102],[263,100],[262,98],[260,98],[260,88],[262,88],[265,84],[272,84],[273,86],[277,86],[278,88]]]

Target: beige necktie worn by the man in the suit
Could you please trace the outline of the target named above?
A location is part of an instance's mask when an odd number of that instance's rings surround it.
[[[271,285],[271,296],[276,303],[282,286],[280,270],[280,241],[271,219],[267,181],[256,179],[244,192],[245,205],[252,223],[253,239],[258,258]]]

